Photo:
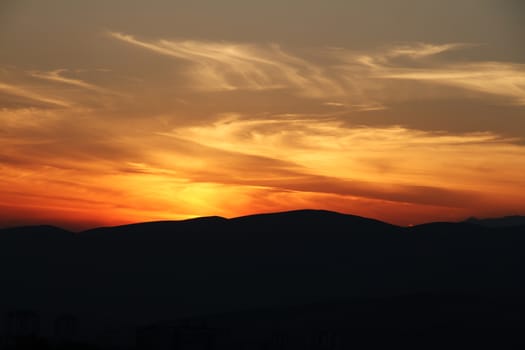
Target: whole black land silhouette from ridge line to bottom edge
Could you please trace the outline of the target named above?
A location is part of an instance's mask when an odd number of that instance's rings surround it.
[[[525,226],[327,211],[0,230],[19,349],[525,346]]]

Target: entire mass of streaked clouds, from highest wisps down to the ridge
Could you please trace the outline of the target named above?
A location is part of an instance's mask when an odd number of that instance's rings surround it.
[[[133,33],[94,36],[94,63],[0,67],[0,224],[525,210],[525,134],[491,124],[523,111],[523,64],[454,38],[353,48]],[[431,131],[428,101],[470,131]]]

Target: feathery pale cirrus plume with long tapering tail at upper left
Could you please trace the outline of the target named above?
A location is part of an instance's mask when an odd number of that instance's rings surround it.
[[[189,75],[202,90],[293,89],[309,97],[343,94],[320,65],[284,52],[278,45],[194,40],[143,41],[110,32],[112,38],[191,64]]]

